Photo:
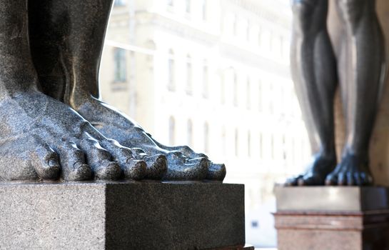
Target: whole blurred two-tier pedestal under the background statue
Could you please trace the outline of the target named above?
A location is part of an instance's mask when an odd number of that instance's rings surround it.
[[[276,187],[278,250],[389,249],[389,189]]]

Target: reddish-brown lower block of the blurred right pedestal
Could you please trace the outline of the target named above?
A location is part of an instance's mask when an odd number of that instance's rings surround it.
[[[275,214],[278,250],[388,250],[385,214]]]

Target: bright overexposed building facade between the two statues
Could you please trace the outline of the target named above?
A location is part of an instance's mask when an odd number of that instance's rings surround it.
[[[246,208],[301,171],[309,144],[289,72],[283,0],[116,0],[103,101],[165,144],[225,162]]]

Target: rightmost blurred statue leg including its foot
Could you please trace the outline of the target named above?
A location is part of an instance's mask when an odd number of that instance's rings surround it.
[[[385,83],[385,47],[375,13],[375,0],[340,0],[343,21],[339,74],[346,120],[340,164],[326,182],[332,185],[372,184],[368,149]]]

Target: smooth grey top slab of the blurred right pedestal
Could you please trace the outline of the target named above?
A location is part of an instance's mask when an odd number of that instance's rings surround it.
[[[389,209],[389,189],[378,186],[276,186],[277,211]]]

